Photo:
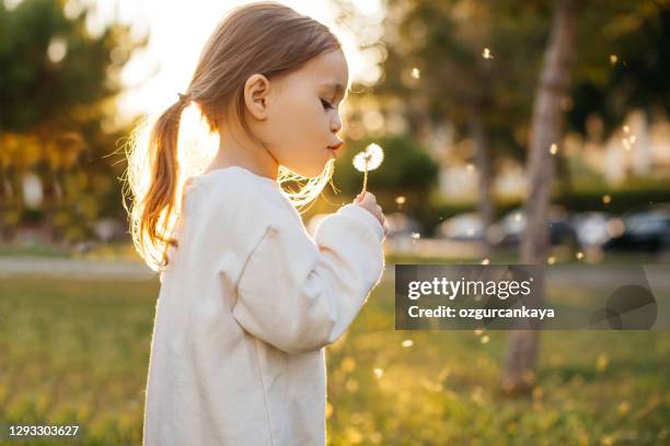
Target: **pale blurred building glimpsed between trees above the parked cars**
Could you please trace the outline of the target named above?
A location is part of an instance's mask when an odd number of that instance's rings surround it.
[[[586,138],[568,134],[561,144],[571,176],[600,177],[609,186],[616,186],[631,177],[670,179],[670,122],[657,119],[649,122],[642,110],[632,111],[625,122],[602,140],[601,124],[591,122]],[[477,199],[476,167],[470,140],[453,141],[453,133],[438,129],[424,138],[431,154],[441,166],[440,193],[450,201]],[[493,148],[495,151],[495,148]],[[584,175],[587,174],[587,175]],[[590,174],[590,175],[588,175]],[[525,193],[524,166],[510,159],[497,160],[494,192],[498,197],[520,198]]]

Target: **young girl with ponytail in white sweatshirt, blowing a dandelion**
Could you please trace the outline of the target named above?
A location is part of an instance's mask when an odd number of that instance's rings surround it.
[[[146,445],[325,443],[323,347],[380,280],[388,231],[371,193],[314,238],[296,209],[330,180],[347,85],[326,26],[277,3],[241,7],[153,125],[149,151],[132,150],[131,233],[161,272]],[[190,105],[220,144],[186,179],[177,137]],[[282,189],[300,177],[312,178],[301,191]]]

